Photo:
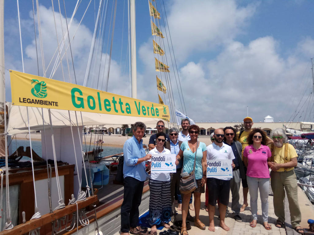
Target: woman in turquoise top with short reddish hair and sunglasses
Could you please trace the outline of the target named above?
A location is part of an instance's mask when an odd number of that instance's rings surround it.
[[[183,170],[190,174],[193,171],[194,159],[195,160],[195,179],[198,188],[193,192],[194,194],[194,207],[195,207],[195,221],[196,227],[205,230],[205,225],[199,219],[199,210],[201,208],[201,193],[205,192],[204,184],[206,182],[206,144],[198,142],[198,133],[200,131],[197,125],[191,125],[188,129],[191,140],[185,141],[181,144],[180,151],[176,156],[176,164],[183,157]],[[183,194],[182,198],[182,226],[181,235],[188,235],[186,228],[187,212],[190,203],[191,193]]]

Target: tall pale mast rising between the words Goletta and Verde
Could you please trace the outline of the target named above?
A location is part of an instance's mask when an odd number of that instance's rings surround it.
[[[131,28],[131,77],[132,98],[137,99],[136,86],[136,37],[135,37],[135,0],[130,0],[130,28]]]

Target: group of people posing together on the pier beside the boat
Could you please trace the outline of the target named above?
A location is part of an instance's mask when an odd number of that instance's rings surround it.
[[[200,220],[201,194],[205,192],[206,185],[206,211],[209,215],[209,231],[215,231],[214,213],[218,202],[219,226],[228,231],[225,224],[229,194],[231,191],[231,210],[233,218],[242,222],[240,212],[244,211],[247,194],[250,193],[250,206],[252,221],[250,226],[257,224],[257,198],[258,190],[262,202],[263,225],[271,230],[268,224],[268,194],[269,182],[273,191],[274,212],[278,217],[275,226],[283,227],[284,197],[287,194],[292,227],[303,233],[300,227],[301,212],[298,205],[297,181],[294,167],[297,164],[297,153],[294,147],[287,143],[285,131],[274,129],[270,138],[260,128],[252,128],[253,120],[244,118],[245,129],[236,133],[231,127],[216,129],[211,135],[212,144],[206,146],[198,141],[200,128],[190,125],[188,119],[181,121],[182,131],[170,128],[168,134],[164,133],[165,124],[158,121],[157,134],[150,136],[149,153],[143,149],[143,135],[145,124],[136,122],[133,125],[133,137],[123,146],[124,153],[124,198],[121,206],[121,234],[157,234],[157,226],[170,228],[169,222],[176,221],[175,199],[182,202],[181,235],[187,235],[187,220],[193,221],[194,226],[205,230],[206,226]],[[138,206],[141,202],[143,184],[150,172],[152,154],[175,154],[175,173],[151,173],[149,179],[149,224],[151,231],[140,227],[138,223]],[[208,160],[232,160],[232,178],[213,176],[207,178],[206,168]],[[148,167],[145,168],[145,162]],[[190,174],[193,169],[197,189],[192,193],[180,193],[181,174]],[[270,171],[270,170],[271,171]],[[270,173],[269,173],[270,172]],[[240,183],[242,180],[244,202],[241,205]],[[194,195],[195,217],[189,213],[189,205]]]

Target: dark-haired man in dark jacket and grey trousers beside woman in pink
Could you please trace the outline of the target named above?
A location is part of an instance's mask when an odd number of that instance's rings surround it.
[[[237,141],[236,130],[233,127],[225,127],[224,132],[224,143],[231,146],[233,154],[235,155],[235,159],[233,160],[235,168],[232,169],[232,179],[230,179],[230,190],[232,195],[231,210],[233,211],[233,218],[237,222],[242,222],[242,218],[239,216],[241,209],[241,205],[239,203],[239,190],[241,179],[246,178],[241,158],[242,145],[239,141]]]

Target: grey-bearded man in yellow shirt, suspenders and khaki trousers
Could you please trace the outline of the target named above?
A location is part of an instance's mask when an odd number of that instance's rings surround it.
[[[272,160],[268,162],[271,169],[270,183],[273,190],[274,212],[278,217],[275,226],[284,225],[284,197],[287,194],[291,226],[298,233],[303,233],[300,227],[301,211],[298,203],[298,185],[294,167],[297,165],[297,153],[294,147],[287,143],[285,131],[281,128],[274,129],[271,134],[273,144],[268,145],[272,152]]]

